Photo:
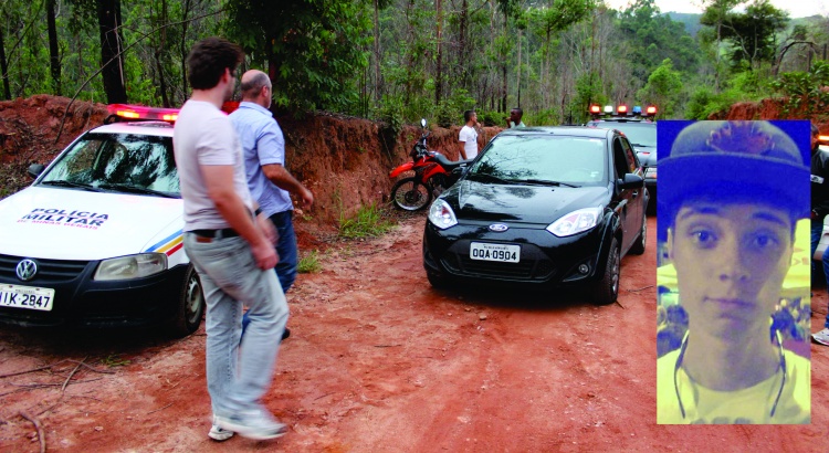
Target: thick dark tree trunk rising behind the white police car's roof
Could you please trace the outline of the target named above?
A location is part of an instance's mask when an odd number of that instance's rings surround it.
[[[109,104],[127,102],[124,86],[124,55],[120,34],[120,0],[97,0],[98,32],[101,35],[101,72],[104,92]]]

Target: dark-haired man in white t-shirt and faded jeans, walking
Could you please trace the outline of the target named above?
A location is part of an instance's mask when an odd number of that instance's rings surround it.
[[[242,50],[221,38],[193,45],[187,57],[192,96],[179,112],[172,146],[185,204],[185,251],[207,302],[207,381],[213,411],[209,436],[234,432],[279,438],[287,426],[261,399],[271,384],[287,304],[273,267],[275,232],[259,214],[233,125],[220,107],[235,87]],[[255,214],[254,214],[255,212]],[[242,335],[242,306],[251,324]]]

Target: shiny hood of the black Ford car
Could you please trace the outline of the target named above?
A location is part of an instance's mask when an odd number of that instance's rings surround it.
[[[447,192],[458,220],[549,224],[577,209],[607,206],[609,187],[495,185],[462,180]]]

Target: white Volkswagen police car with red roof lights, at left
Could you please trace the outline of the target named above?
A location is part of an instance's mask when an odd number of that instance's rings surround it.
[[[76,138],[31,187],[0,201],[0,323],[195,331],[204,309],[182,249],[172,155],[177,110],[114,105],[128,119]]]

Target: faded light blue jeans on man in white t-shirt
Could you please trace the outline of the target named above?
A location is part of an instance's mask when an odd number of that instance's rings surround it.
[[[207,301],[207,380],[213,413],[231,417],[258,409],[276,365],[287,303],[276,275],[256,267],[242,238],[199,242],[185,233],[185,251]],[[242,336],[242,305],[250,326]]]

